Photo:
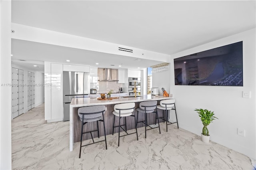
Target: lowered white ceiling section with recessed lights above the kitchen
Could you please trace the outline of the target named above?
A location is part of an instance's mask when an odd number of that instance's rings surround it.
[[[37,71],[44,71],[44,62],[82,64],[100,68],[146,68],[160,64],[160,61],[124,57],[110,53],[89,51],[46,43],[12,39],[12,63]],[[70,60],[67,62],[66,60]],[[20,61],[26,60],[26,61]],[[99,63],[96,65],[95,63]],[[38,67],[33,67],[37,65]],[[121,65],[121,67],[119,67]]]

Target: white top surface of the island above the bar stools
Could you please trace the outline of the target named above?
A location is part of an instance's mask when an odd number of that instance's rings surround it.
[[[141,101],[152,101],[152,100],[164,100],[172,99],[172,97],[164,96],[154,96],[154,95],[143,95],[142,97],[122,97],[112,100],[98,100],[98,97],[90,98],[74,98],[70,103],[70,107],[84,107],[84,106],[95,106],[95,105],[112,105],[119,103],[129,103],[129,102],[141,102]]]

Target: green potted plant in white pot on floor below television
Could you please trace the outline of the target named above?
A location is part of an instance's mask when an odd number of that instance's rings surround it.
[[[213,111],[208,111],[207,109],[195,109],[204,125],[201,137],[202,141],[205,143],[209,143],[210,135],[207,126],[215,119],[218,119],[214,116]]]

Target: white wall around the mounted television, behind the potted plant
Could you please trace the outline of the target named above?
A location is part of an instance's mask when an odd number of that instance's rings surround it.
[[[200,135],[203,126],[194,109],[210,109],[218,117],[208,126],[210,140],[254,160],[256,159],[255,31],[254,28],[171,55],[172,72],[170,76],[170,88],[176,99],[179,127]],[[243,87],[174,85],[174,58],[240,41],[243,41]],[[251,98],[242,98],[242,91],[251,91]],[[238,128],[245,129],[245,137],[238,136]]]

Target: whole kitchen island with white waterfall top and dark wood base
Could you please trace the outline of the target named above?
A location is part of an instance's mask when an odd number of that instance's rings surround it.
[[[113,99],[113,100],[108,100],[108,101],[102,101],[98,100],[96,97],[91,97],[91,98],[76,98],[72,99],[71,104],[70,104],[70,151],[73,150],[73,143],[74,142],[79,142],[80,141],[80,133],[81,133],[81,127],[82,123],[79,119],[78,116],[78,109],[80,107],[86,107],[86,106],[95,106],[95,105],[104,105],[106,107],[106,111],[104,114],[104,120],[105,120],[105,127],[106,127],[106,135],[107,134],[112,134],[113,130],[113,121],[114,121],[114,105],[120,104],[120,103],[130,103],[134,102],[135,103],[135,118],[137,120],[137,112],[136,108],[139,107],[140,102],[142,101],[152,101],[152,100],[157,100],[158,104],[160,103],[161,100],[165,99],[172,99],[172,97],[163,97],[163,96],[158,96],[155,97],[154,95],[144,95],[143,97],[119,97],[118,99]],[[162,112],[158,113],[158,117],[162,117]],[[138,115],[138,122],[144,121],[145,120],[145,115],[142,113],[139,113]],[[156,120],[156,114],[154,113],[149,113],[147,115],[147,121],[148,125],[155,124]],[[162,119],[159,119],[159,122],[162,122]],[[118,126],[119,121],[118,117],[116,117],[115,120],[115,126]],[[125,118],[121,118],[120,125],[125,124]],[[99,122],[99,134],[100,136],[104,136],[104,128],[103,128],[103,122]],[[134,123],[134,117],[126,117],[126,125],[127,125],[127,130],[134,129],[135,128],[135,123]],[[138,123],[138,127],[144,127],[144,123]],[[123,127],[125,129],[125,127]],[[91,130],[97,130],[97,122],[90,122],[84,125],[84,131],[88,132]],[[122,129],[120,131],[123,131]],[[114,128],[114,133],[118,132],[118,128]],[[92,136],[98,137],[98,132],[92,132]],[[90,139],[91,135],[90,133],[83,134],[83,140]]]

